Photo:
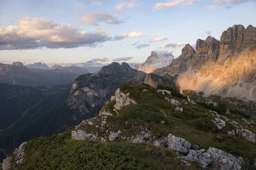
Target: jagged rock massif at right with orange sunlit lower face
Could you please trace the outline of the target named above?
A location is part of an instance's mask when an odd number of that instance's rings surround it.
[[[179,58],[155,73],[176,77],[180,90],[256,101],[256,27],[234,25],[220,41],[210,36],[198,40],[189,57],[184,54],[187,49],[186,45]]]

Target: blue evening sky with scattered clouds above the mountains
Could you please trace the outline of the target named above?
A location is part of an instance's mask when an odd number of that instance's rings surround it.
[[[0,0],[0,62],[145,62],[256,26],[256,0]]]

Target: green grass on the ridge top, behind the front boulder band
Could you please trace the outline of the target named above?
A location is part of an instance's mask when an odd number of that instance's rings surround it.
[[[137,122],[151,129],[155,136],[167,136],[172,133],[197,144],[204,149],[217,147],[223,149],[235,156],[241,156],[249,162],[256,158],[256,146],[241,138],[230,136],[227,130],[233,130],[235,127],[227,124],[223,130],[218,130],[213,123],[214,117],[209,113],[209,109],[228,117],[228,119],[237,121],[239,125],[246,127],[252,132],[256,132],[255,127],[248,126],[241,121],[241,114],[226,114],[224,104],[214,107],[206,104],[184,104],[182,95],[175,88],[160,86],[160,89],[171,90],[172,95],[162,95],[157,93],[156,89],[146,84],[125,84],[120,87],[124,93],[130,93],[129,97],[138,104],[125,106],[120,110],[120,119],[129,122]],[[143,90],[147,89],[147,93]],[[184,108],[183,112],[175,112],[175,107],[169,104],[164,97],[180,101],[180,106]],[[206,114],[208,112],[208,114]],[[164,116],[166,115],[166,117]],[[122,117],[122,118],[120,118]],[[165,121],[164,124],[159,123]]]

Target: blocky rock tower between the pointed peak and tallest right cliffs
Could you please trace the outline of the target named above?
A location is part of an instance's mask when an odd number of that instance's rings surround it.
[[[208,36],[206,40],[198,39],[196,42],[196,54],[215,54],[218,55],[220,51],[220,41]]]

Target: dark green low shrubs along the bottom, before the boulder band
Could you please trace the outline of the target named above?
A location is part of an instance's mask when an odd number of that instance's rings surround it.
[[[75,141],[66,135],[29,141],[25,155],[25,166],[12,169],[201,169],[192,162],[191,167],[181,165],[175,151],[169,149],[146,144]]]

